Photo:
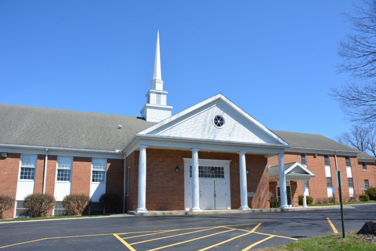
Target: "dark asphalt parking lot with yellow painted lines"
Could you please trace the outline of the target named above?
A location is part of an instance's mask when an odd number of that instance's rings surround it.
[[[345,207],[345,231],[375,220],[376,204]],[[189,216],[106,217],[0,224],[17,251],[246,251],[341,233],[339,209]]]

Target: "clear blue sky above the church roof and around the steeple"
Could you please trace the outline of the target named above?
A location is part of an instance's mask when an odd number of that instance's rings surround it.
[[[221,92],[269,129],[333,138],[357,2],[0,0],[0,103],[139,116],[159,29],[173,114]]]

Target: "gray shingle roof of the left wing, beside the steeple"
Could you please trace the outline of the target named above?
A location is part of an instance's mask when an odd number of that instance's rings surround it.
[[[2,144],[117,150],[154,124],[133,116],[0,104]]]

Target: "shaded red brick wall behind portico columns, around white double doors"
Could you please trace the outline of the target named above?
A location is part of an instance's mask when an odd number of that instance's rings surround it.
[[[190,151],[146,149],[146,209],[184,210],[184,160],[192,158]],[[228,153],[198,152],[199,159],[231,160],[230,189],[232,208],[240,207],[239,155]],[[131,167],[129,196],[126,208],[137,209],[139,151],[127,157],[127,167]],[[255,197],[248,198],[250,207],[268,207],[269,183],[266,169],[267,160],[263,156],[246,155],[248,192]],[[175,173],[175,166],[180,172]]]

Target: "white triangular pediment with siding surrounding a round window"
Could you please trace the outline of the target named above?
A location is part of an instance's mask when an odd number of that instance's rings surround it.
[[[213,119],[217,115],[224,118],[225,122],[221,127],[217,127],[213,123]],[[175,114],[139,134],[287,145],[281,138],[222,94],[217,94]]]

